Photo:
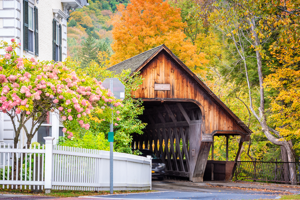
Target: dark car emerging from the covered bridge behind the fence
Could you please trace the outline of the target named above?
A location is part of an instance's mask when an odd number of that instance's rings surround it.
[[[165,176],[166,165],[161,158],[155,156],[149,149],[139,149],[143,157],[152,157],[152,177],[157,177],[158,180],[163,180]]]

